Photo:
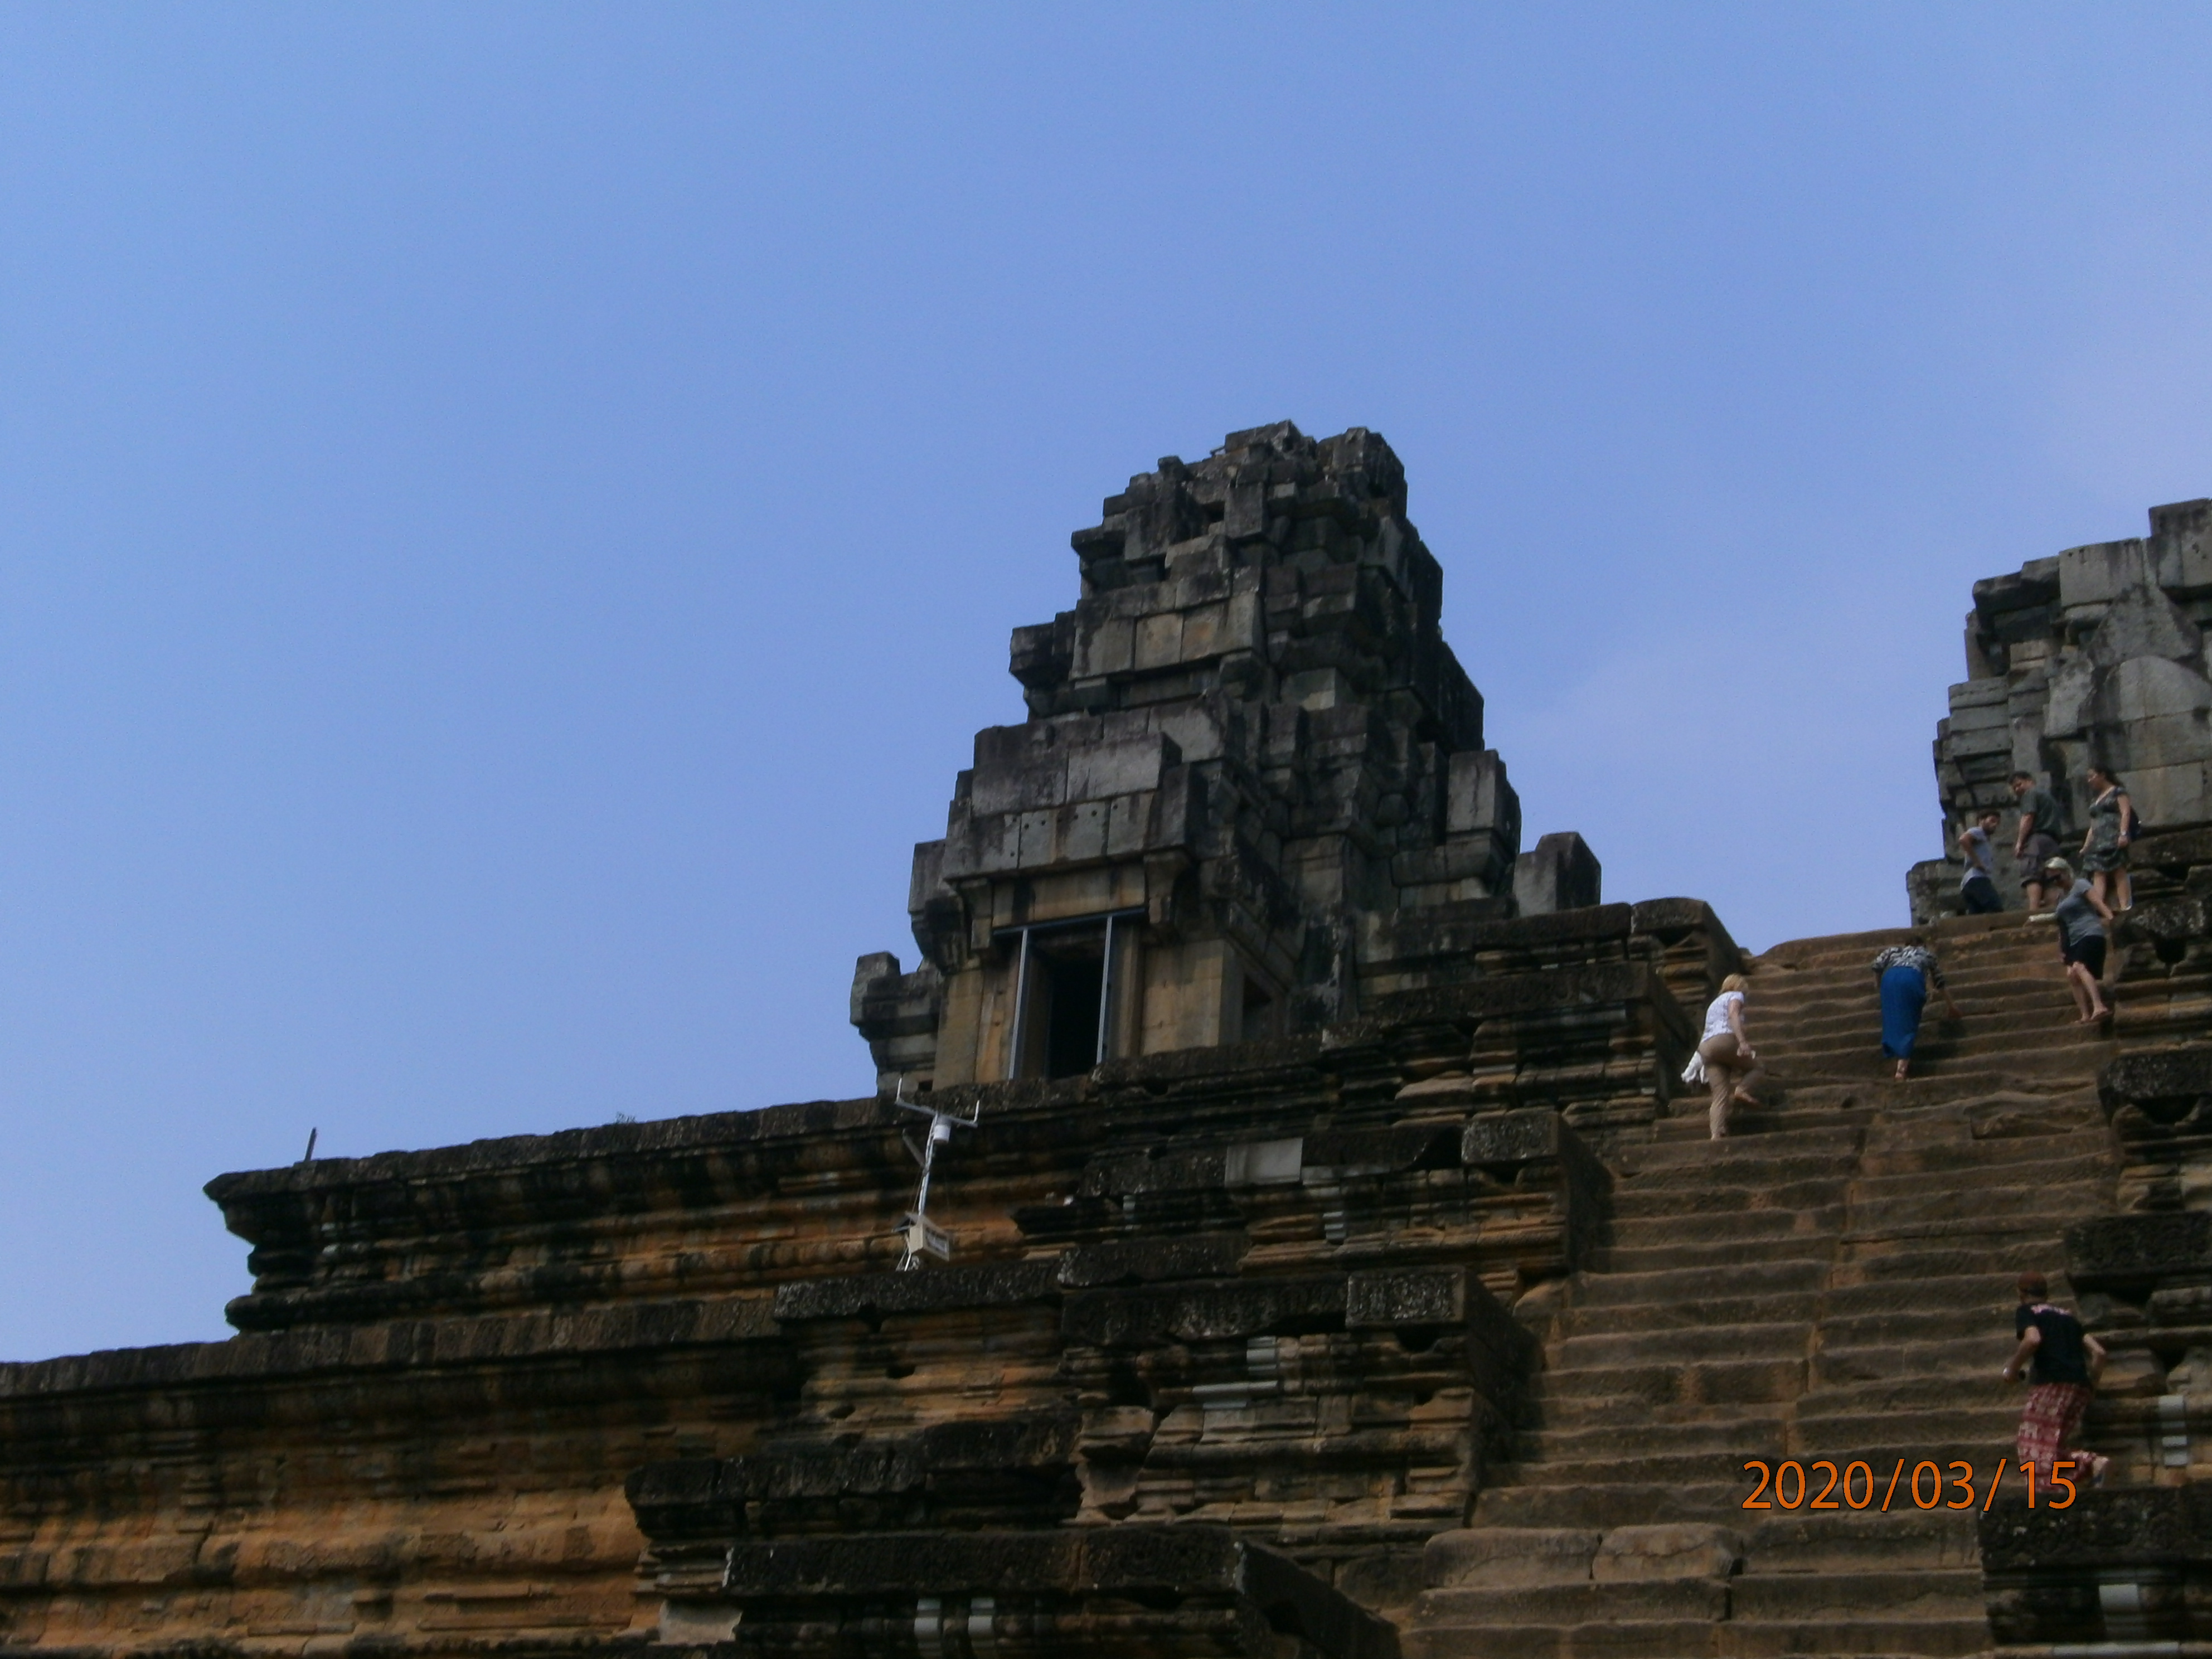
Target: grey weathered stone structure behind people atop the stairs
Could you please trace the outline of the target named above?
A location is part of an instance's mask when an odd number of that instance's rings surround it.
[[[1936,726],[1942,856],[1907,876],[1916,922],[1958,909],[1955,836],[1980,807],[2004,814],[2031,772],[2088,827],[2084,774],[2101,763],[2143,823],[2212,823],[2212,500],[2150,509],[2150,535],[2075,546],[1973,584],[1966,679]],[[2073,847],[2066,849],[2073,856]],[[1997,887],[2022,902],[2011,858]]]

